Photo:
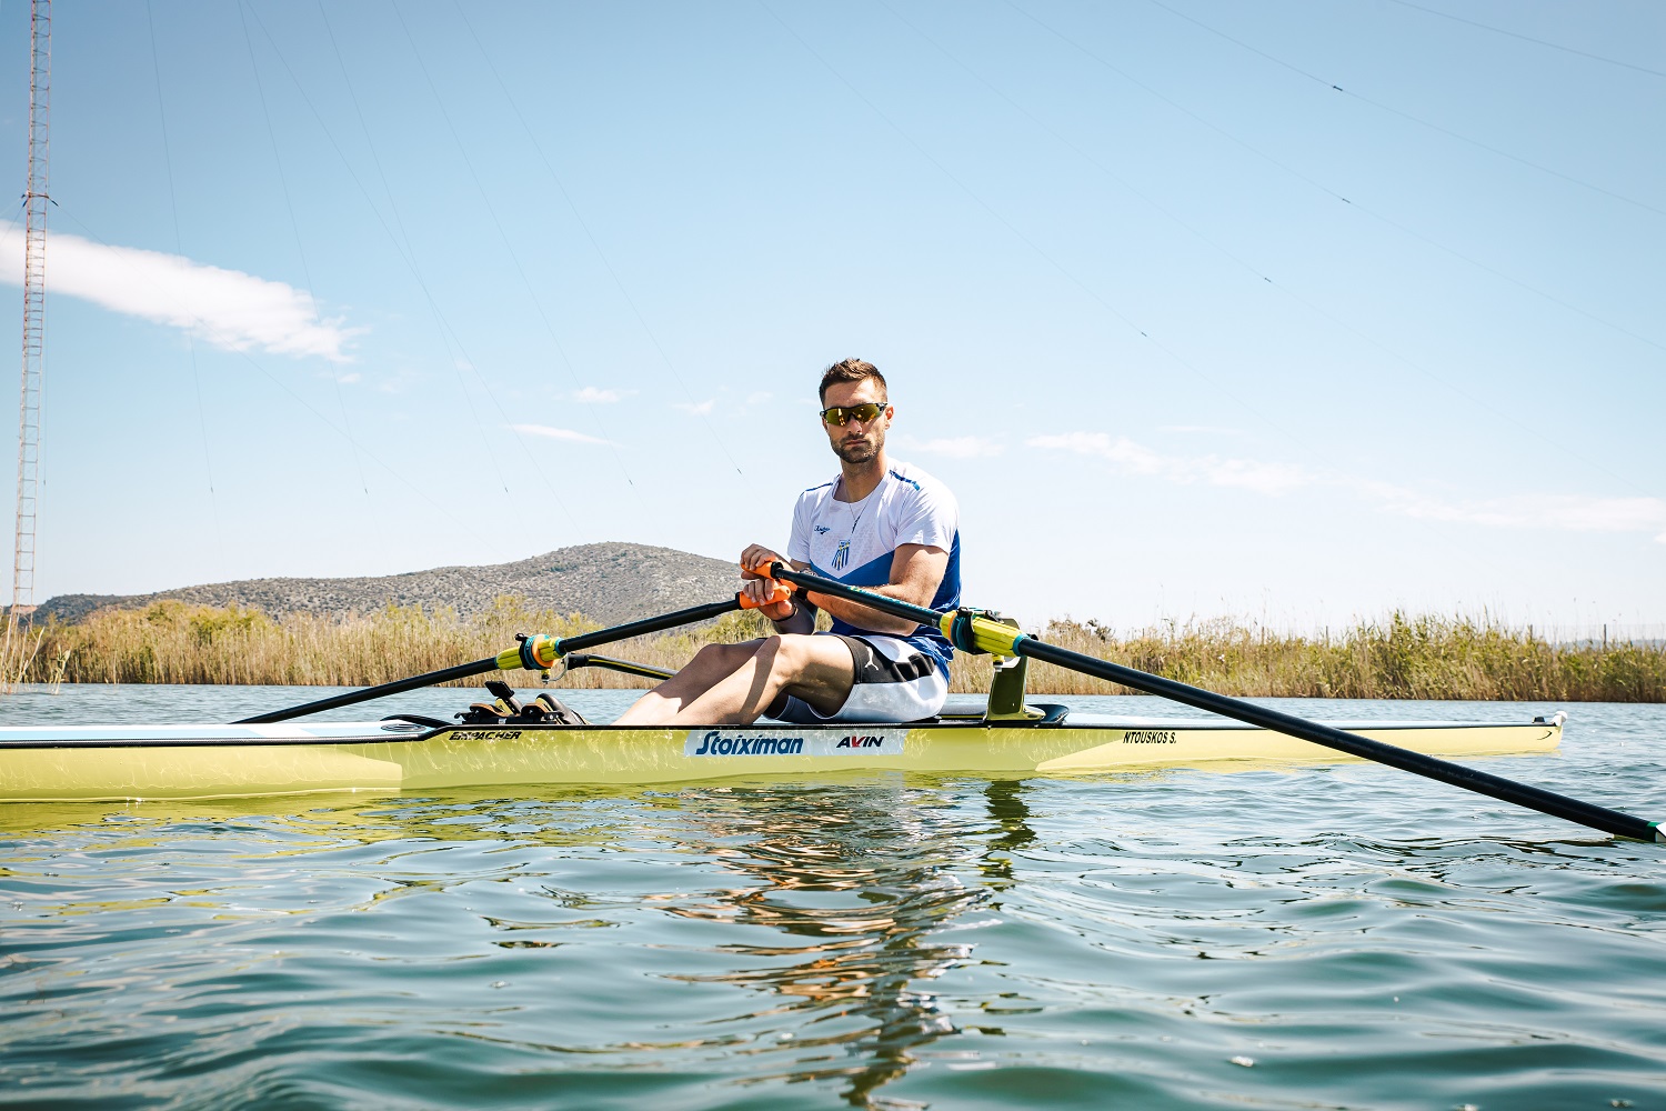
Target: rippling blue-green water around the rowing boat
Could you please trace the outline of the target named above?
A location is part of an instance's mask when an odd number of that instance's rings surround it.
[[[1486,768],[1666,816],[1666,706],[1566,708]],[[1666,846],[1368,765],[8,805],[0,946],[10,1104],[1666,1108]]]

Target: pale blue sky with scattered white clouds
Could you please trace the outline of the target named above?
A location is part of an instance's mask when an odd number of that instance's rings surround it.
[[[861,356],[971,605],[1666,630],[1658,3],[53,23],[37,601],[785,545]]]

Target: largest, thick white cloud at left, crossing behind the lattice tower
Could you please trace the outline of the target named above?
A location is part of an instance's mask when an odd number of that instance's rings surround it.
[[[23,232],[0,235],[0,281],[23,283]],[[128,316],[183,328],[232,351],[317,355],[352,361],[347,343],[363,328],[322,318],[312,293],[182,255],[105,247],[78,235],[47,240],[47,290]]]

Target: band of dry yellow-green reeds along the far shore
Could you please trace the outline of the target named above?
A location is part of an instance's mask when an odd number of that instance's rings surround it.
[[[823,618],[825,620],[825,618]],[[583,616],[498,598],[491,610],[458,618],[450,610],[388,606],[368,615],[273,620],[255,610],[158,601],[143,610],[102,610],[75,625],[35,630],[23,683],[213,683],[372,686],[481,660],[515,633],[571,636],[596,628]],[[701,628],[621,641],[603,651],[678,668],[706,643],[763,635],[756,613],[730,613]],[[1116,633],[1096,621],[1055,620],[1041,640],[1233,696],[1419,698],[1478,701],[1666,701],[1666,645],[1558,645],[1483,616],[1394,613],[1338,633],[1299,636],[1233,620],[1193,620]],[[32,640],[35,640],[32,636]],[[13,663],[13,666],[17,666]],[[478,686],[480,676],[456,686]],[[988,656],[956,653],[951,688],[988,690]],[[518,686],[536,678],[513,676]],[[645,688],[651,683],[586,668],[566,688]],[[1118,695],[1126,688],[1046,665],[1030,668],[1030,693]]]

